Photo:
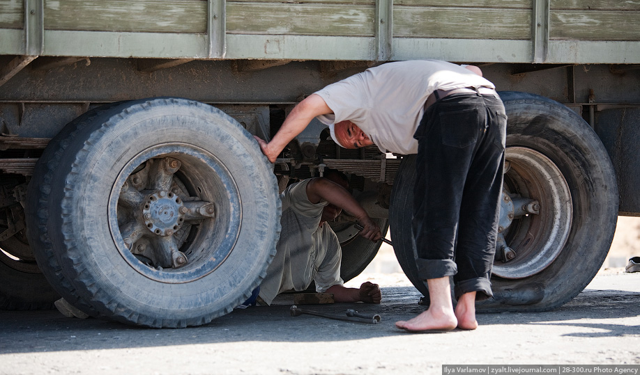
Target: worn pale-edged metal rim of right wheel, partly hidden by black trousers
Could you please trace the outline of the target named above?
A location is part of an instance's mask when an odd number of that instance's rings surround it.
[[[567,181],[551,159],[527,147],[508,147],[493,274],[526,278],[563,250],[572,223]]]

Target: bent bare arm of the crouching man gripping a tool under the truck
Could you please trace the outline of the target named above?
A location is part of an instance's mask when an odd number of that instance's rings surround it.
[[[326,178],[312,179],[307,183],[307,198],[312,203],[326,200],[356,217],[358,223],[365,228],[360,231],[360,236],[371,241],[378,241],[382,238],[379,226],[371,220],[365,209],[360,206],[360,203],[351,196],[349,191],[335,182]]]

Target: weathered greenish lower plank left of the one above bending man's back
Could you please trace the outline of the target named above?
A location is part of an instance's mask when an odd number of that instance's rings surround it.
[[[375,6],[227,3],[227,33],[373,36]]]

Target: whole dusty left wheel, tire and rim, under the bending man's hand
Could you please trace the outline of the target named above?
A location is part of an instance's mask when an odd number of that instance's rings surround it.
[[[213,106],[178,98],[114,106],[78,129],[57,173],[52,248],[99,317],[206,324],[250,296],[275,254],[271,164]]]

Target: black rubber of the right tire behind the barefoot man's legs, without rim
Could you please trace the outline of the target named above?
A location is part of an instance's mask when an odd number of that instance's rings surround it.
[[[551,310],[579,294],[607,257],[618,215],[616,176],[600,139],[579,115],[538,95],[500,95],[508,115],[507,150],[534,150],[560,170],[570,191],[572,212],[566,214],[572,223],[565,245],[549,266],[525,278],[492,276],[494,298],[479,303],[478,310]],[[399,168],[391,198],[391,232],[400,266],[427,295],[425,283],[417,277],[411,236],[414,165],[415,157],[407,157]],[[509,187],[508,176],[505,188]],[[512,237],[507,238],[508,244]]]

